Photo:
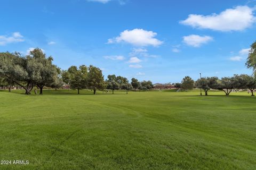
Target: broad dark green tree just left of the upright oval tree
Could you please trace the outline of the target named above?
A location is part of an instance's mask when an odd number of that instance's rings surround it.
[[[79,90],[86,88],[87,67],[81,65],[79,69],[77,69],[76,66],[71,66],[68,72],[70,74],[70,88],[77,89],[77,94],[79,94]]]

